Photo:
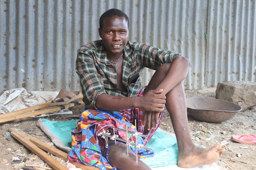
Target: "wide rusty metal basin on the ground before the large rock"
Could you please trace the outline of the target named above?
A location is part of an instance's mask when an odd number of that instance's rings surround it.
[[[240,105],[220,99],[191,97],[187,98],[186,101],[187,112],[204,122],[223,122],[242,110]]]

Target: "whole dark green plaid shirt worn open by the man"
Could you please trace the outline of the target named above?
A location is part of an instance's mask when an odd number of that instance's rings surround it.
[[[124,48],[123,84],[117,87],[117,74],[110,64],[102,40],[93,41],[77,50],[76,73],[80,78],[85,109],[97,109],[97,96],[106,93],[120,97],[134,97],[141,89],[140,75],[144,67],[156,70],[163,63],[172,63],[176,55],[142,43],[128,41]]]

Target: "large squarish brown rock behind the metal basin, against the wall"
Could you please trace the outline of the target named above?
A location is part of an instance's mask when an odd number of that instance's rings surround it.
[[[216,99],[227,100],[233,103],[244,102],[242,111],[256,106],[256,82],[233,81],[218,83]],[[240,102],[238,103],[239,105]]]

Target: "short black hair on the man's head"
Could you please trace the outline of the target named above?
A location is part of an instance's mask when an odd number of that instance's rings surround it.
[[[118,10],[116,8],[112,8],[106,12],[104,12],[101,16],[100,16],[100,29],[102,29],[102,24],[103,24],[103,20],[105,18],[109,18],[109,17],[114,17],[114,16],[118,16],[118,17],[123,17],[125,18],[125,20],[128,22],[128,29],[129,29],[129,18],[128,16],[121,10]]]

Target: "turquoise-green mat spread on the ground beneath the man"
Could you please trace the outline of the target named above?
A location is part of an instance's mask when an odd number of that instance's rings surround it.
[[[62,142],[65,147],[69,147],[68,142],[72,141],[71,131],[76,127],[77,120],[68,120],[68,121],[50,121],[48,119],[40,119],[39,126],[48,128],[48,131],[51,131],[56,135]],[[42,130],[46,133],[47,128]],[[52,134],[46,133],[47,136],[53,136]],[[50,137],[51,138],[51,137]],[[52,138],[51,138],[52,140]],[[53,143],[58,146],[59,144]],[[146,147],[152,148],[156,154],[152,158],[141,158],[141,160],[150,167],[162,167],[168,165],[177,165],[178,160],[178,147],[176,138],[167,132],[158,129],[154,136],[148,141]],[[66,149],[68,151],[68,148]]]

